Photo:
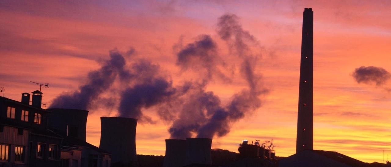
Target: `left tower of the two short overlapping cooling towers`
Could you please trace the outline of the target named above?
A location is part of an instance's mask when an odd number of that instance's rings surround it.
[[[182,167],[185,165],[186,140],[166,139],[166,155],[163,167]]]

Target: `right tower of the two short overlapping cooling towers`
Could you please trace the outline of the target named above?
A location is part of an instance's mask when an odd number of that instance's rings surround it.
[[[192,163],[212,164],[210,148],[212,139],[206,138],[186,138],[186,161],[185,165]]]

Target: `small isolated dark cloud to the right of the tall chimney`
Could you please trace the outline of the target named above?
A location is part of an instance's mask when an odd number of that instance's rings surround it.
[[[375,83],[377,86],[382,86],[386,84],[387,80],[391,78],[391,75],[384,68],[374,66],[361,66],[360,68],[355,69],[355,71],[353,72],[353,78],[359,84]]]

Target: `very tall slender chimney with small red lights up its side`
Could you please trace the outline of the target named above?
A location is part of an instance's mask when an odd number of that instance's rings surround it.
[[[301,35],[296,153],[305,149],[313,149],[313,32],[314,12],[312,8],[305,8]]]

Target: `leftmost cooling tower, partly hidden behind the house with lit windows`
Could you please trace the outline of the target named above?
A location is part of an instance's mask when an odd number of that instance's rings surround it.
[[[48,117],[49,126],[55,128],[61,135],[75,137],[86,141],[87,110],[49,108],[52,111]]]

